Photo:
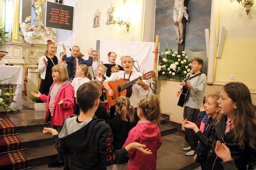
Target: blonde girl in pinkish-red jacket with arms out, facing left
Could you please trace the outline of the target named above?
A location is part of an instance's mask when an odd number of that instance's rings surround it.
[[[53,129],[61,131],[61,125],[68,116],[73,116],[74,108],[74,88],[68,83],[68,70],[65,66],[55,65],[52,68],[52,77],[54,83],[50,87],[49,95],[42,95],[30,92],[34,97],[47,102],[45,123],[51,121]],[[66,163],[66,159],[65,159]],[[58,160],[48,165],[49,168],[63,166],[63,156],[58,153]]]

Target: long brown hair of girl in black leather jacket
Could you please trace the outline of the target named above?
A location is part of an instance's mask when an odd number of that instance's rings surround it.
[[[233,118],[234,141],[239,142],[241,149],[245,148],[245,141],[249,142],[252,148],[256,148],[256,111],[248,87],[241,82],[229,82],[222,89],[237,104]],[[224,117],[225,115],[219,115],[218,121]]]

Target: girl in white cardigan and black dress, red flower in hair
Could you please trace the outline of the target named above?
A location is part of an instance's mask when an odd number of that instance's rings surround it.
[[[53,66],[60,64],[65,65],[66,61],[61,61],[60,57],[55,56],[55,43],[48,39],[46,44],[46,50],[42,57],[39,59],[38,72],[41,73],[42,82],[40,84],[39,91],[41,94],[48,96],[49,89],[53,84],[52,68]]]

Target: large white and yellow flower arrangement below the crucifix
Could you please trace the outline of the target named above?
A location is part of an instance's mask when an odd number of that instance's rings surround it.
[[[174,79],[181,82],[188,74],[193,73],[191,71],[192,62],[188,61],[185,51],[182,51],[180,54],[175,51],[176,44],[174,51],[168,50],[167,42],[166,45],[165,53],[161,53],[164,56],[159,57],[158,80]]]

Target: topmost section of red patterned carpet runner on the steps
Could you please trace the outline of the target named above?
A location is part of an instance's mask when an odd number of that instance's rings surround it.
[[[0,114],[0,135],[16,133],[16,126],[4,114]]]

